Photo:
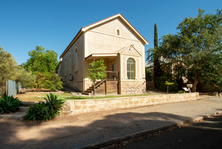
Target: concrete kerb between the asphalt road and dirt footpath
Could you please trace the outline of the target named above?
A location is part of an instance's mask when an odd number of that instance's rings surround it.
[[[166,131],[166,130],[169,130],[169,129],[172,129],[172,128],[181,128],[184,125],[191,125],[193,123],[196,123],[196,122],[199,122],[199,121],[202,121],[202,120],[205,120],[205,119],[209,119],[209,118],[212,118],[214,116],[219,116],[219,115],[222,115],[222,111],[217,111],[215,113],[211,113],[211,114],[207,114],[207,115],[203,115],[203,116],[198,116],[198,117],[195,117],[195,118],[190,118],[186,121],[171,124],[171,125],[166,125],[166,126],[163,126],[163,127],[157,128],[157,129],[145,130],[145,131],[140,131],[140,132],[137,132],[137,133],[132,133],[132,134],[129,134],[129,135],[125,135],[123,137],[112,138],[112,139],[109,139],[109,140],[106,140],[106,141],[103,141],[103,142],[100,142],[100,143],[87,145],[85,147],[81,147],[81,148],[78,148],[78,149],[97,149],[97,148],[101,148],[101,147],[105,147],[105,146],[110,146],[112,144],[120,143],[122,141],[128,141],[128,140],[133,139],[133,138],[139,138],[139,137],[142,137],[142,136],[146,136],[147,134],[154,134],[156,132]]]

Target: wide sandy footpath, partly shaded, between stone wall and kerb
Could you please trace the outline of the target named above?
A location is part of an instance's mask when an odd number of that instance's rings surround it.
[[[222,98],[92,112],[47,122],[0,119],[0,148],[81,148],[222,111]]]

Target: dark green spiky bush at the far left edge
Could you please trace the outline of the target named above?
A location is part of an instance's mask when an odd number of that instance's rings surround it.
[[[18,97],[13,96],[2,96],[0,97],[0,113],[11,113],[18,110],[21,105],[21,101]]]

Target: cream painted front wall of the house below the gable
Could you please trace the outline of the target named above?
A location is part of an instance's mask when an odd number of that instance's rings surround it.
[[[116,35],[116,30],[120,30],[120,36]],[[137,61],[136,80],[145,80],[145,47],[140,39],[123,23],[120,19],[111,20],[105,24],[97,26],[85,33],[87,46],[85,47],[85,57],[91,53],[115,53],[129,45],[134,45],[135,49],[141,53],[141,57],[134,53]],[[124,53],[123,53],[124,54]],[[126,53],[125,53],[126,54]],[[121,80],[127,80],[126,59],[122,56]]]

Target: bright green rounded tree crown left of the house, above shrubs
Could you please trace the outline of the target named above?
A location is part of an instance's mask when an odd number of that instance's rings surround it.
[[[22,66],[33,74],[39,72],[55,71],[58,65],[57,53],[53,50],[45,50],[40,45],[36,46],[35,50],[29,52],[30,58]]]

